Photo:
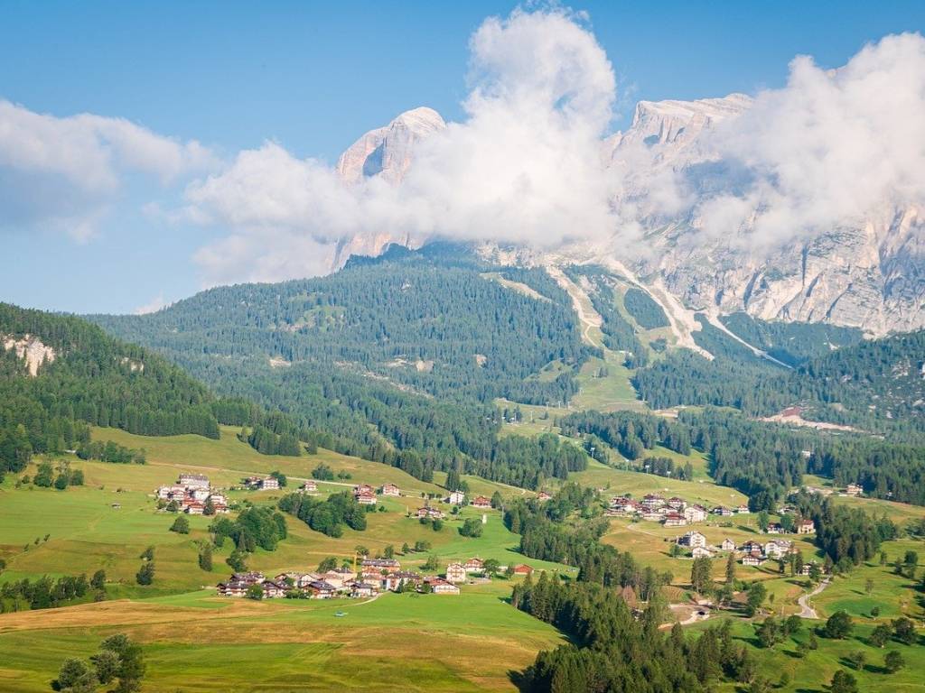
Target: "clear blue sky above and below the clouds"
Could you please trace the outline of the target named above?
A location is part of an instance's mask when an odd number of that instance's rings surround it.
[[[275,140],[333,162],[365,130],[429,105],[463,117],[468,40],[509,3],[31,3],[0,10],[0,100],[126,118],[218,155]],[[866,42],[918,31],[921,2],[573,4],[617,77],[613,128],[639,99],[783,85],[797,54],[838,67]],[[0,175],[0,187],[9,180]],[[223,230],[141,212],[182,181],[127,176],[93,236],[4,219],[0,299],[128,312],[202,286],[196,249]],[[12,188],[11,188],[12,189]],[[19,190],[19,188],[17,188]],[[12,194],[12,193],[10,193]],[[19,193],[17,193],[19,194]],[[0,201],[5,195],[0,189]]]

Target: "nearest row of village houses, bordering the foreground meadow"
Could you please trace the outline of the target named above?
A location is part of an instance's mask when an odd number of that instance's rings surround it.
[[[397,590],[425,590],[434,594],[459,594],[459,583],[470,576],[485,572],[479,558],[447,566],[443,577],[421,576],[402,570],[394,558],[364,558],[357,569],[340,567],[317,573],[280,573],[272,579],[263,573],[234,573],[218,584],[218,594],[224,597],[245,597],[253,585],[259,585],[264,599],[286,597],[289,594],[309,599],[363,598],[379,592]],[[515,565],[514,575],[526,576],[533,572],[529,565]]]

